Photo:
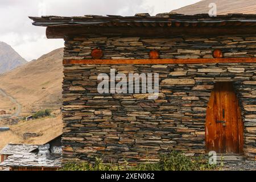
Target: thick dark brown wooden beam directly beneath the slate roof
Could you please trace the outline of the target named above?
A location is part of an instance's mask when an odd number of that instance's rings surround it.
[[[135,23],[135,25],[141,24]],[[179,24],[175,24],[179,26]],[[49,39],[60,39],[65,36],[122,35],[122,36],[177,36],[177,35],[250,35],[256,34],[255,27],[85,27],[63,26],[47,27],[46,35]]]

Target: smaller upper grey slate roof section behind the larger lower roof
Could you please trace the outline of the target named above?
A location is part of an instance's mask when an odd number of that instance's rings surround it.
[[[30,144],[7,144],[1,151],[0,155],[13,155],[17,152],[31,152],[38,148],[39,145]]]

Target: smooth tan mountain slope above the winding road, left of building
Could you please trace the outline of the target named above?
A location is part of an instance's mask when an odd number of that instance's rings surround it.
[[[22,114],[40,109],[60,109],[63,48],[0,75],[0,89],[22,105]],[[0,108],[5,106],[1,102]]]

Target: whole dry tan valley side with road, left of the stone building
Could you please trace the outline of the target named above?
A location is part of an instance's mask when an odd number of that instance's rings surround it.
[[[0,132],[0,150],[8,143],[43,144],[62,133],[62,59],[63,48],[56,49],[0,75],[0,110],[6,113],[0,127],[10,129]],[[46,109],[49,117],[24,119]]]

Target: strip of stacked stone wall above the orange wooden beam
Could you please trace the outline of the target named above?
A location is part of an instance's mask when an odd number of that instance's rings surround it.
[[[256,37],[67,38],[64,59],[92,59],[93,48],[104,51],[102,59],[148,59],[152,49],[160,51],[160,59],[212,58],[214,49],[221,49],[225,57],[256,57]]]

